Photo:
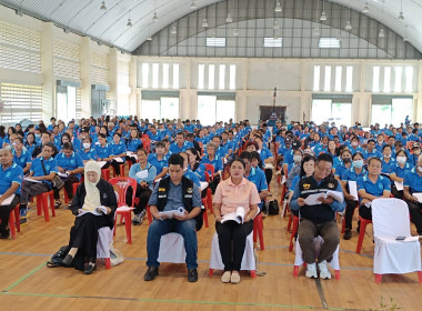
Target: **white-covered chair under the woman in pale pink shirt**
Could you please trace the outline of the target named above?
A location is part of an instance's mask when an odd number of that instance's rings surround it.
[[[214,274],[214,270],[224,270],[224,264],[221,259],[220,245],[219,245],[219,235],[217,232],[212,237],[211,243],[211,259],[210,259],[210,269],[208,274],[211,277]],[[257,273],[257,262],[253,254],[253,232],[247,237],[247,244],[244,248],[244,253],[242,258],[242,264],[240,270],[248,270],[251,272],[251,278],[255,278]]]

